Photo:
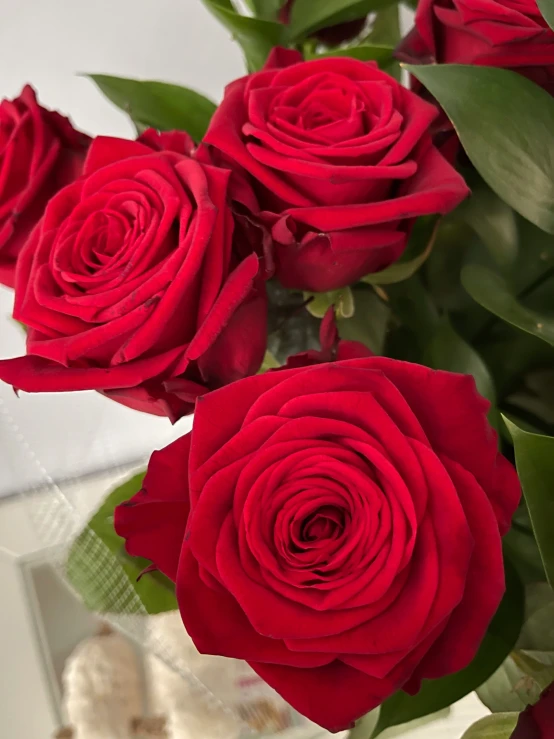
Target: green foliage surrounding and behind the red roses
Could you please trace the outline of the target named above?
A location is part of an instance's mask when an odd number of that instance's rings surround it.
[[[275,45],[306,58],[347,55],[376,60],[391,74],[399,38],[393,0],[296,0],[289,23],[279,22],[284,0],[202,0],[241,45],[247,68],[261,68]],[[552,22],[554,2],[541,0]],[[322,28],[368,15],[349,45],[327,48]],[[354,733],[366,739],[426,716],[478,690],[493,716],[466,739],[510,736],[517,712],[554,678],[554,99],[513,72],[460,65],[412,66],[454,124],[473,195],[438,221],[420,219],[403,258],[357,285],[328,294],[291,294],[270,286],[277,320],[266,368],[292,351],[315,345],[319,319],[335,306],[343,338],[375,353],[436,369],[472,374],[491,402],[490,419],[504,453],[515,460],[525,499],[505,539],[508,588],[481,649],[462,672],[424,684],[413,697],[392,696]],[[161,82],[105,75],[92,78],[140,130],[180,128],[200,139],[215,104],[192,90]],[[150,613],[175,607],[162,579],[136,581],[111,525],[115,505],[140,487],[140,478],[115,490],[90,522],[114,566]],[[83,592],[80,537],[68,575]],[[85,589],[86,590],[86,589]],[[113,603],[90,591],[97,610]]]

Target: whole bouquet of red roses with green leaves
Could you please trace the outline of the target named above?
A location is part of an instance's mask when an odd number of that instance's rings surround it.
[[[65,573],[328,730],[477,690],[468,737],[552,737],[554,5],[204,3],[219,106],[93,75],[135,140],[0,106],[0,379],[193,414]]]

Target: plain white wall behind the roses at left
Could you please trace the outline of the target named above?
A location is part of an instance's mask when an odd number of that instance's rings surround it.
[[[0,98],[26,82],[91,134],[132,136],[92,82],[101,72],[195,87],[219,100],[243,74],[239,49],[200,0],[0,0]],[[0,356],[23,352],[0,288]],[[184,422],[188,424],[188,421]],[[176,433],[165,419],[95,393],[22,395],[0,384],[0,495],[147,454]]]

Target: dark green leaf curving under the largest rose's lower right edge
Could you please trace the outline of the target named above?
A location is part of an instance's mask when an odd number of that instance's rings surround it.
[[[381,706],[373,737],[391,726],[412,721],[460,700],[482,685],[512,651],[523,623],[524,595],[512,567],[506,568],[506,594],[471,664],[455,675],[424,680],[417,695],[395,693]]]

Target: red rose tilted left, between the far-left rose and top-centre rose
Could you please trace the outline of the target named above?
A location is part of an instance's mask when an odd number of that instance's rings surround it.
[[[84,176],[48,204],[16,274],[27,356],[1,361],[0,379],[175,419],[257,371],[265,288],[258,257],[233,247],[230,172],[187,156],[186,134],[141,141],[96,139]]]

